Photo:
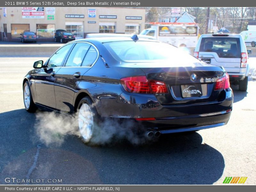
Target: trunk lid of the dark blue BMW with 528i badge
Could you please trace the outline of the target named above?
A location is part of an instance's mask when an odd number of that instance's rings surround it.
[[[188,67],[141,68],[148,80],[164,82],[167,94],[155,94],[161,104],[182,104],[220,100],[221,91],[214,91],[217,79],[225,75],[221,67],[196,64]]]

